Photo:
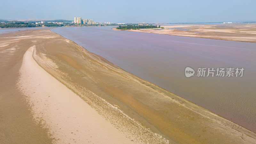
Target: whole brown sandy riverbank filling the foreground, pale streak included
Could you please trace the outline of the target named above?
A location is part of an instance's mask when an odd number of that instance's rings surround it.
[[[0,48],[1,143],[256,142],[254,132],[49,29],[0,35],[9,44]]]

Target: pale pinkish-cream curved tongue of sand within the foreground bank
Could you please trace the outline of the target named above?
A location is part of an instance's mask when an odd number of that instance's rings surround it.
[[[24,54],[19,85],[34,118],[49,130],[55,143],[132,143],[78,95]]]

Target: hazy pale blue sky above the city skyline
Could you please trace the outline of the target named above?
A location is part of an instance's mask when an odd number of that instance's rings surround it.
[[[96,22],[256,21],[256,0],[0,0],[0,19]]]

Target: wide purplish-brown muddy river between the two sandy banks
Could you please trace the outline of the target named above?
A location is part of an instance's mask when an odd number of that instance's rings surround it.
[[[125,71],[150,81],[256,132],[256,43],[169,36],[112,27],[61,27],[51,31]],[[195,70],[186,77],[185,68]],[[206,68],[205,76],[197,76]],[[215,70],[207,76],[208,68]],[[224,68],[224,76],[216,76]],[[234,68],[234,76],[226,76]],[[243,76],[236,76],[236,68]],[[239,71],[241,72],[241,70]]]

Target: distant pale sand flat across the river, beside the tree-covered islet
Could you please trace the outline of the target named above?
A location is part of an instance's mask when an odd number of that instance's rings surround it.
[[[162,26],[164,29],[128,30],[173,36],[189,36],[256,43],[256,23],[249,24],[184,24]],[[175,29],[170,29],[175,28]],[[189,29],[189,30],[184,30]],[[115,29],[116,30],[116,29]]]

